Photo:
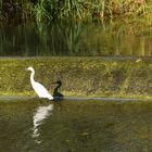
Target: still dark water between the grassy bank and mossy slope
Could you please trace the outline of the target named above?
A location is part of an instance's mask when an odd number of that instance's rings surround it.
[[[0,28],[1,56],[152,56],[151,28],[119,23],[51,23]]]

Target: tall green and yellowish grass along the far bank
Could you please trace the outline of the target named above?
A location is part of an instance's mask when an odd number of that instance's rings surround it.
[[[1,0],[2,23],[58,20],[114,20],[151,16],[145,0]]]

